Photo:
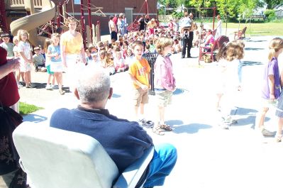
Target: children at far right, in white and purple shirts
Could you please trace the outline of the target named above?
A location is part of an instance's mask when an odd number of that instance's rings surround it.
[[[221,113],[219,125],[222,128],[229,128],[231,124],[238,123],[231,117],[235,94],[241,90],[241,73],[244,57],[245,44],[242,40],[234,40],[226,43],[219,50],[217,59],[220,67],[218,72],[219,80],[217,87],[217,109]],[[283,75],[279,73],[278,57],[283,52],[283,39],[273,38],[269,45],[269,53],[265,70],[262,77],[262,102],[255,120],[255,130],[261,136],[274,136],[274,132],[268,130],[265,123],[267,111],[272,109],[277,116],[278,128],[275,139],[282,141],[283,128]]]

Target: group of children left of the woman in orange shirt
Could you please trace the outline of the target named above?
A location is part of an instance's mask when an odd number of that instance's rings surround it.
[[[56,89],[55,79],[58,84],[60,94],[65,94],[62,90],[62,72],[63,67],[60,65],[60,35],[57,33],[52,34],[51,39],[45,40],[44,48],[36,46],[33,48],[28,43],[28,31],[19,30],[17,35],[13,37],[13,43],[10,43],[10,35],[8,33],[1,34],[1,47],[7,50],[8,59],[18,58],[20,61],[20,69],[16,72],[16,81],[18,88],[34,88],[35,84],[31,82],[30,71],[48,72],[48,82],[46,89]],[[34,55],[33,55],[34,53]],[[52,84],[50,83],[51,78]],[[23,84],[20,79],[22,78]]]

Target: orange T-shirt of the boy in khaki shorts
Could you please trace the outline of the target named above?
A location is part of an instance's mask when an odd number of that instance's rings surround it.
[[[131,74],[138,82],[150,86],[149,74],[150,74],[150,65],[148,60],[143,58],[142,60],[135,60],[131,63],[128,73]],[[133,84],[136,89],[140,88],[137,84]]]

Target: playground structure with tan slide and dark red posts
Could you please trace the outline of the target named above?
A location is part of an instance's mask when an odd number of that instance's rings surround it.
[[[8,3],[7,3],[8,2]],[[4,32],[9,32],[8,23],[6,22],[6,9],[8,7],[12,10],[24,9],[26,10],[26,16],[18,18],[11,22],[10,30],[12,35],[16,35],[19,29],[24,29],[29,33],[30,43],[34,46],[43,45],[44,40],[47,36],[55,33],[56,28],[63,28],[65,31],[68,30],[65,25],[65,20],[68,17],[73,17],[67,12],[67,4],[69,1],[60,2],[55,6],[51,0],[11,0],[0,2],[0,26]],[[84,48],[91,45],[93,42],[100,41],[100,23],[96,23],[96,26],[91,23],[91,13],[96,16],[105,16],[101,11],[102,7],[96,7],[88,0],[87,6],[84,5],[81,0],[81,21],[77,20],[79,25],[77,30],[82,33],[84,39]],[[85,26],[84,11],[87,10],[89,13],[89,25]],[[95,10],[94,12],[92,12]],[[45,35],[45,36],[44,36]]]

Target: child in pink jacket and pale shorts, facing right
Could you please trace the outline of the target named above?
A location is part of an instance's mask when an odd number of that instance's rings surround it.
[[[165,123],[165,107],[171,104],[171,98],[176,89],[175,79],[172,72],[172,61],[170,52],[172,50],[172,38],[158,38],[155,47],[159,55],[157,56],[155,72],[155,97],[158,107],[158,121],[152,128],[153,133],[164,135],[162,130],[172,131],[172,128]]]

